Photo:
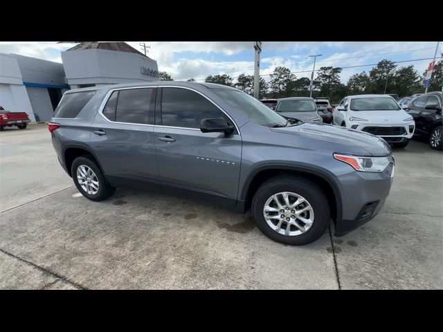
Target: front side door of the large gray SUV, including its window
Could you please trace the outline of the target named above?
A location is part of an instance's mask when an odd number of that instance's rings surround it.
[[[164,192],[188,194],[235,205],[242,139],[238,129],[202,133],[204,118],[233,120],[201,93],[181,87],[159,88],[154,127],[159,177]]]

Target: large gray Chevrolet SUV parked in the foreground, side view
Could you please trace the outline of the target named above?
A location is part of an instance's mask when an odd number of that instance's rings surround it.
[[[49,124],[60,164],[87,199],[143,187],[245,212],[267,237],[311,243],[374,217],[394,174],[370,133],[283,118],[218,84],[151,82],[64,93]]]

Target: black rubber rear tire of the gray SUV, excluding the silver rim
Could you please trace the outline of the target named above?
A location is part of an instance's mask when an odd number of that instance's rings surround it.
[[[86,190],[82,188],[80,183],[78,183],[77,169],[80,165],[85,165],[91,168],[92,171],[96,174],[98,178],[98,192],[96,194],[88,194]],[[91,156],[81,156],[75,158],[71,166],[71,175],[75,183],[75,187],[77,187],[78,191],[84,197],[90,199],[91,201],[104,201],[105,199],[108,199],[110,196],[112,196],[114,192],[116,192],[116,188],[109,185],[109,183],[105,179],[105,176],[103,176],[100,167],[98,167]]]

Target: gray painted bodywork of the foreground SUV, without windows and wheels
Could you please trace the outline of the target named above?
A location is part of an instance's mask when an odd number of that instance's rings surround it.
[[[226,137],[221,133],[201,133],[196,129],[111,123],[98,113],[113,89],[138,86],[193,89],[221,107],[237,124],[239,133]],[[230,199],[234,204],[244,201],[251,174],[256,174],[257,170],[269,167],[309,169],[309,172],[327,179],[336,190],[337,209],[340,210],[337,223],[341,222],[341,218],[356,219],[359,210],[369,201],[380,201],[377,212],[381,209],[392,183],[392,167],[388,167],[385,173],[362,174],[335,160],[332,154],[388,156],[391,150],[386,142],[368,133],[327,124],[262,127],[215,95],[211,91],[215,87],[232,89],[190,82],[82,89],[97,92],[77,118],[51,119],[61,124],[60,129],[52,133],[57,155],[63,165],[64,150],[75,144],[98,158],[106,176],[149,178],[162,186],[174,183],[183,189]],[[98,129],[105,131],[106,135],[92,133]],[[158,140],[166,135],[175,138],[175,142]]]

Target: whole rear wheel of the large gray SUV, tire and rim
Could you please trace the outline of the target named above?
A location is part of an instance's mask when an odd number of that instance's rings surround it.
[[[75,158],[71,167],[71,175],[75,187],[91,201],[104,201],[116,191],[115,187],[111,187],[107,183],[100,167],[89,156]]]

